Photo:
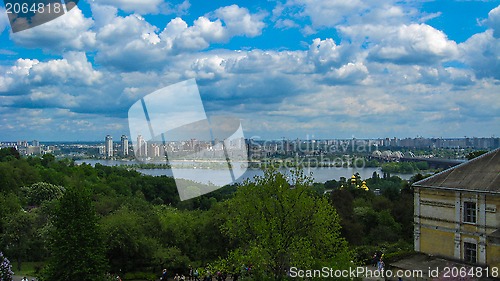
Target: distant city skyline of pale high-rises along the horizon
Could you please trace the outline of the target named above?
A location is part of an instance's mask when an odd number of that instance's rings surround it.
[[[226,140],[224,145],[215,140],[175,140],[146,141],[141,135],[136,143],[129,143],[128,137],[122,135],[120,140],[113,141],[111,135],[106,135],[104,142],[89,143],[41,143],[38,140],[0,142],[0,148],[14,147],[20,155],[35,156],[55,153],[59,157],[128,159],[139,161],[158,161],[176,159],[216,160],[227,156],[240,159],[248,157],[250,162],[279,156],[319,156],[331,153],[371,153],[371,157],[383,159],[413,158],[422,151],[456,151],[453,157],[463,159],[464,152],[474,150],[492,150],[500,147],[500,138],[382,138],[382,139],[245,139],[233,138]],[[403,152],[400,152],[403,151]],[[412,152],[415,152],[415,154]],[[458,152],[460,154],[458,154]],[[450,156],[450,155],[448,155]],[[452,158],[453,158],[452,157]],[[393,159],[394,158],[394,159]],[[246,160],[244,160],[246,161]],[[434,163],[437,165],[436,163]],[[444,165],[448,165],[446,162]],[[439,164],[441,165],[441,164]]]

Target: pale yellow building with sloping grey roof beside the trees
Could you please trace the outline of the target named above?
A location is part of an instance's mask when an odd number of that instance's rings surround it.
[[[415,251],[500,267],[500,149],[413,187]]]

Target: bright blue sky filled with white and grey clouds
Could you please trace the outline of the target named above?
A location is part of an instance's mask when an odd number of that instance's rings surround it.
[[[118,139],[190,78],[247,137],[500,133],[500,1],[81,0],[18,33],[0,6],[0,42],[0,141]]]

